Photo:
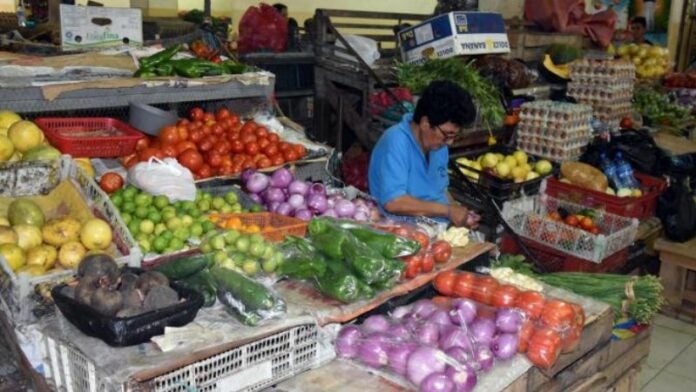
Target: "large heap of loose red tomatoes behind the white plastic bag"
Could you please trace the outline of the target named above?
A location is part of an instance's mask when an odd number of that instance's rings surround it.
[[[242,121],[226,108],[215,113],[194,108],[188,119],[162,128],[156,138],[140,139],[136,152],[125,157],[123,165],[130,168],[151,157],[171,157],[202,179],[280,166],[306,153],[301,144],[281,141],[266,127]]]

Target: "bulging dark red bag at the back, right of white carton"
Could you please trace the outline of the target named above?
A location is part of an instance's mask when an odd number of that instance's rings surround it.
[[[239,53],[284,52],[288,44],[288,21],[275,8],[260,3],[249,7],[239,21]]]

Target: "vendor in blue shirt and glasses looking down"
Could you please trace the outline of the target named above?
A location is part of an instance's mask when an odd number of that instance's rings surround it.
[[[476,226],[477,216],[449,200],[448,146],[476,109],[469,93],[455,83],[434,81],[414,113],[387,129],[370,158],[369,185],[387,217],[420,216]]]

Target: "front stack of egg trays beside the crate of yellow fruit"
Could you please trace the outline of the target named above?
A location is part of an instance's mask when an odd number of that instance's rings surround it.
[[[573,160],[592,136],[592,107],[565,102],[535,101],[522,105],[517,146],[553,161]]]

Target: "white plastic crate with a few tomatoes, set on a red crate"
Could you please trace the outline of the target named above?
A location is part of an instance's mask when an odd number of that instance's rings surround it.
[[[628,248],[638,231],[638,220],[600,211],[594,219],[602,233],[591,234],[580,228],[547,218],[550,212],[563,208],[577,214],[586,206],[555,199],[549,195],[508,202],[503,216],[515,233],[528,240],[559,251],[567,256],[601,263],[614,253]]]

